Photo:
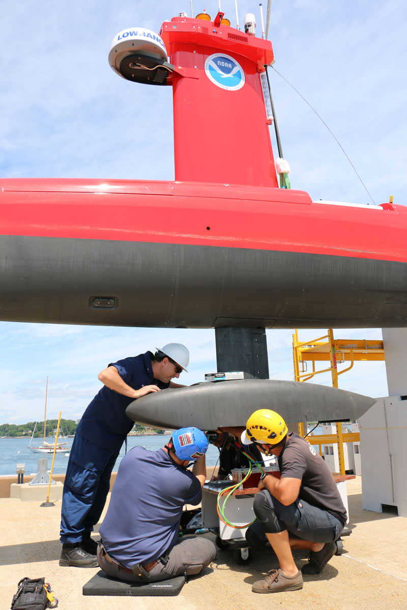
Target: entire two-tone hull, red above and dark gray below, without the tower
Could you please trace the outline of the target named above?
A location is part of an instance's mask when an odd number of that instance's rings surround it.
[[[407,324],[407,208],[177,182],[5,179],[0,319]]]

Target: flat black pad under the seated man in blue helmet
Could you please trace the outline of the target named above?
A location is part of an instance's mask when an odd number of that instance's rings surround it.
[[[83,595],[178,595],[185,584],[185,576],[176,576],[157,583],[124,583],[99,570],[82,587]]]

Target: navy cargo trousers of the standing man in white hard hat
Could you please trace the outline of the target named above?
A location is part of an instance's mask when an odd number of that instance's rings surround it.
[[[81,542],[82,534],[98,523],[117,456],[75,434],[63,484],[61,542]]]

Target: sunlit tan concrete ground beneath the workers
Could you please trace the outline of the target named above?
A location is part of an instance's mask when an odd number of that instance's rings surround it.
[[[211,567],[191,579],[178,597],[90,597],[82,586],[98,569],[59,567],[60,502],[40,508],[37,502],[2,498],[1,608],[10,608],[18,581],[45,576],[61,610],[173,610],[222,608],[254,610],[405,610],[407,609],[407,519],[362,510],[361,479],[348,481],[353,529],[344,538],[344,554],[334,556],[322,574],[305,576],[302,590],[273,595],[251,592],[251,584],[276,566],[272,553],[254,552],[250,564],[239,565],[230,550],[218,551]],[[203,534],[214,540],[214,535]],[[95,534],[95,538],[98,536]],[[304,553],[295,554],[298,567]]]

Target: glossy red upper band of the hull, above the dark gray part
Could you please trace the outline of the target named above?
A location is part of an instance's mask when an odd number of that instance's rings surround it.
[[[308,193],[218,184],[3,179],[0,234],[407,262],[407,207],[312,203]]]

